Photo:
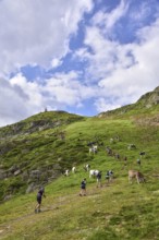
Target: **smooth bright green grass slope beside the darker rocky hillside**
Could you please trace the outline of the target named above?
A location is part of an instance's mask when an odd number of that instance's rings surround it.
[[[52,131],[52,130],[46,130]],[[5,240],[107,240],[159,239],[159,128],[157,125],[137,125],[130,119],[84,119],[64,127],[65,142],[53,141],[39,144],[40,153],[60,156],[62,165],[76,164],[77,172],[69,178],[59,177],[46,185],[47,197],[42,200],[42,212],[35,214],[36,191],[17,194],[0,205],[0,239]],[[37,133],[33,133],[35,137]],[[44,134],[42,132],[40,134]],[[38,135],[38,137],[40,136]],[[110,137],[120,136],[120,141],[110,143]],[[98,139],[97,155],[88,154],[86,143]],[[40,139],[42,140],[42,137]],[[127,149],[129,144],[136,149]],[[106,154],[106,146],[119,153],[120,160]],[[35,151],[33,148],[32,151]],[[140,167],[136,159],[139,152],[146,151]],[[48,163],[52,159],[47,157]],[[38,155],[37,155],[38,156]],[[123,157],[127,156],[124,168]],[[46,158],[41,164],[46,164]],[[102,170],[102,188],[96,188],[96,179],[89,179],[83,164],[89,163],[91,169]],[[3,161],[4,164],[4,161]],[[34,165],[37,161],[34,160]],[[105,182],[107,170],[114,171],[114,180]],[[140,169],[147,182],[137,184],[127,182],[127,170]],[[81,197],[81,180],[87,178],[87,196]]]

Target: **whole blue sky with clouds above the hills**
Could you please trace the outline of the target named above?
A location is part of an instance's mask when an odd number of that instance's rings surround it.
[[[0,0],[0,127],[96,116],[159,86],[159,0]]]

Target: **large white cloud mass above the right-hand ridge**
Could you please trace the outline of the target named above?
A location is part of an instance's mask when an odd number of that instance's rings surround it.
[[[93,53],[84,50],[83,58],[88,61],[89,84],[96,83],[99,87],[97,110],[135,103],[158,86],[158,28],[159,20],[138,29],[138,41],[121,45],[107,39],[101,28],[87,27],[85,44]]]

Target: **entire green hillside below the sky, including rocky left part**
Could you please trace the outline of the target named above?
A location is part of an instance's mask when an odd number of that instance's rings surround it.
[[[157,108],[138,107],[134,115],[124,117],[114,110],[100,118],[41,112],[1,128],[0,239],[159,239]],[[97,154],[88,153],[89,142],[98,145]],[[130,144],[136,148],[129,148]],[[106,146],[111,147],[112,156]],[[143,151],[146,155],[140,157]],[[84,164],[102,171],[101,188],[97,188],[96,179],[89,179]],[[72,166],[77,172],[64,177],[61,172]],[[114,179],[108,184],[105,175],[110,169]],[[129,183],[129,169],[143,172],[146,183]],[[83,178],[87,179],[86,196],[80,196]],[[35,214],[41,184],[47,197],[42,199],[41,213]],[[30,185],[34,188],[27,191]]]

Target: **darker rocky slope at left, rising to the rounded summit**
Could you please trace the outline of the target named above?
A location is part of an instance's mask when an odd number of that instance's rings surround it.
[[[0,129],[0,200],[52,181],[72,164],[65,129],[85,117],[41,112]]]

